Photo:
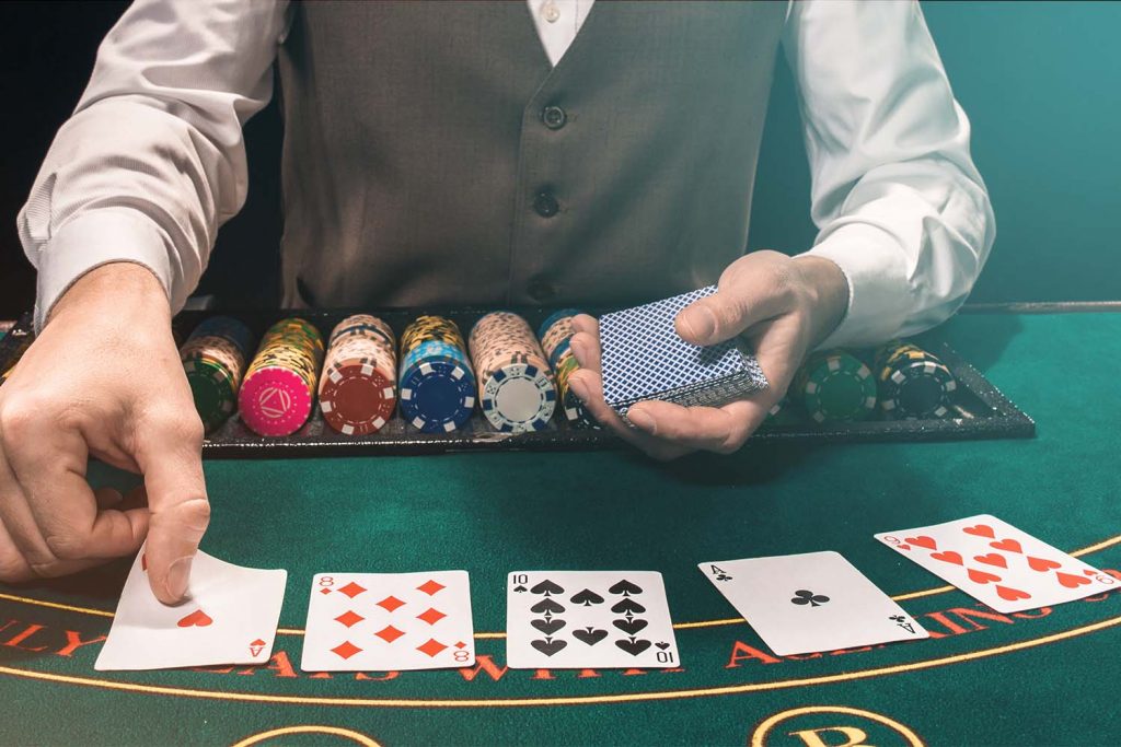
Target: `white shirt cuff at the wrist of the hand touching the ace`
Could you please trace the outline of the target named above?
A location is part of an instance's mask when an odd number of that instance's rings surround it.
[[[129,208],[91,211],[63,224],[39,250],[35,330],[43,329],[55,302],[78,278],[111,262],[148,268],[170,297],[172,263],[160,230]]]

